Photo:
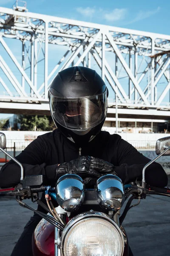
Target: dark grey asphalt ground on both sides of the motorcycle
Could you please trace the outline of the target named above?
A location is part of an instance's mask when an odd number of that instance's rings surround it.
[[[169,176],[170,186],[170,176]],[[26,201],[31,207],[36,203]],[[14,198],[0,198],[0,256],[10,256],[23,227],[32,216]],[[123,226],[134,256],[170,255],[170,198],[149,195],[130,209]],[[24,256],[24,255],[23,255]]]

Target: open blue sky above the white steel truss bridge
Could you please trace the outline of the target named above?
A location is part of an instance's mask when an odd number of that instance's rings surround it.
[[[0,0],[11,8],[13,0]],[[170,34],[170,1],[163,0],[27,0],[29,12],[119,26],[161,34]],[[10,116],[0,114],[0,118]]]

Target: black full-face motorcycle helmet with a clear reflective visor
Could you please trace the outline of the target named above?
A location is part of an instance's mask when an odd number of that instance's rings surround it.
[[[95,70],[62,70],[54,78],[48,98],[55,125],[74,143],[87,143],[101,131],[108,109],[108,88]]]

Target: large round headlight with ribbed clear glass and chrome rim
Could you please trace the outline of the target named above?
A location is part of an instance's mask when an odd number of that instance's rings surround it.
[[[117,224],[101,212],[74,217],[62,232],[64,256],[122,256],[124,239]]]

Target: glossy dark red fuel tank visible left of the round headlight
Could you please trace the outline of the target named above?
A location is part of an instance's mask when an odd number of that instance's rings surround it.
[[[34,256],[54,256],[54,228],[45,219],[39,222],[32,238]]]

